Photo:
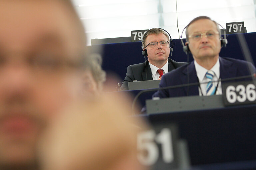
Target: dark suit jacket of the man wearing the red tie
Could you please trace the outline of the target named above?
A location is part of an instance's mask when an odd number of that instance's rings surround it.
[[[168,72],[184,64],[186,63],[176,62],[168,58]],[[127,67],[127,73],[123,81],[123,84],[121,86],[121,90],[128,90],[128,82],[132,82],[134,80],[137,80],[137,81],[153,80],[152,72],[151,72],[148,60],[144,63],[129,65]]]

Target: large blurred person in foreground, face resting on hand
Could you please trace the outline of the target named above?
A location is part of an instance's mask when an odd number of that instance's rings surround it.
[[[127,98],[81,94],[86,37],[71,2],[2,0],[0,25],[0,169],[141,169]]]

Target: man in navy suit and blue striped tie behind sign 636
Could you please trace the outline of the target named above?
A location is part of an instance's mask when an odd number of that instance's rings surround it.
[[[218,80],[250,75],[248,67],[255,72],[255,67],[251,63],[219,56],[221,43],[223,45],[226,43],[221,38],[219,24],[209,17],[197,17],[186,26],[186,41],[187,51],[192,53],[194,61],[188,66],[182,66],[164,75],[159,85],[160,87],[187,83],[200,83],[200,85],[159,90],[153,97],[222,94],[221,81]]]

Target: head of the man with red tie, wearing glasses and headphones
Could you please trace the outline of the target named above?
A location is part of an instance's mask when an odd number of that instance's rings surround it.
[[[151,64],[157,65],[158,62],[167,62],[170,54],[169,41],[170,38],[168,34],[164,30],[161,30],[159,28],[152,28],[143,36],[143,50],[147,50],[148,61]],[[157,43],[152,45],[152,42]]]

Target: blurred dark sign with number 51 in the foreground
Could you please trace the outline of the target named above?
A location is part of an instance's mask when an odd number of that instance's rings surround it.
[[[179,169],[179,161],[188,158],[181,157],[179,153],[178,136],[177,125],[173,123],[161,123],[154,125],[154,129],[140,132],[137,136],[139,162],[151,170]]]

